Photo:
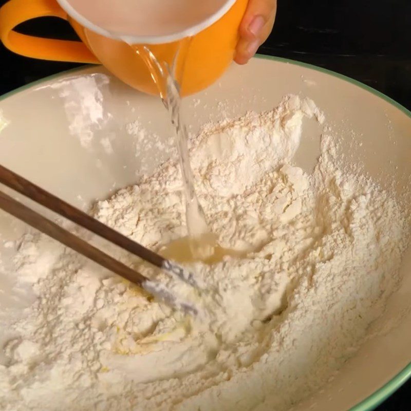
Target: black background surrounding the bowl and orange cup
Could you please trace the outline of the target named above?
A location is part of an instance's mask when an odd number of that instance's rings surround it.
[[[274,30],[261,46],[260,53],[340,72],[383,92],[411,110],[409,0],[278,2]],[[4,3],[5,0],[0,0],[0,6]],[[67,23],[50,17],[25,23],[18,30],[53,38],[76,39]],[[26,59],[0,44],[0,95],[73,67],[76,64]],[[411,382],[400,388],[377,411],[411,411]]]

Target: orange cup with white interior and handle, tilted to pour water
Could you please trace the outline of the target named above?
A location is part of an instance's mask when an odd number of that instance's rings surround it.
[[[0,9],[0,40],[27,57],[103,64],[128,85],[157,94],[150,72],[130,45],[150,45],[158,60],[171,65],[180,41],[192,37],[181,80],[181,94],[189,95],[212,84],[232,62],[247,2],[10,0]],[[44,16],[67,20],[82,43],[14,30],[20,23]]]

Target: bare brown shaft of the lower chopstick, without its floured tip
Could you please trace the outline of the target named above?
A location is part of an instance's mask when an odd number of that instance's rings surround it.
[[[121,275],[123,278],[126,278],[128,281],[137,284],[138,286],[142,286],[144,282],[148,281],[148,278],[144,277],[137,271],[127,267],[123,263],[120,263],[120,261],[88,244],[87,241],[84,241],[83,239],[63,229],[56,223],[29,209],[27,206],[24,206],[24,204],[14,200],[1,191],[0,208],[14,217],[26,222],[31,227],[41,231],[57,241],[60,241],[65,246],[95,261],[95,263],[100,266]]]

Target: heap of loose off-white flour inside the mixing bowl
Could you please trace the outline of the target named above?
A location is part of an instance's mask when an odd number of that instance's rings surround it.
[[[7,324],[18,337],[5,346],[0,408],[283,410],[321,387],[396,288],[407,228],[388,193],[337,166],[327,132],[312,175],[292,165],[304,117],[324,121],[310,100],[291,96],[192,141],[210,227],[221,246],[248,253],[190,267],[208,290],[194,300],[207,321],[27,235],[15,264],[39,298]],[[160,250],[186,234],[178,170],[165,163],[98,203],[96,217]],[[180,284],[176,292],[190,297]]]

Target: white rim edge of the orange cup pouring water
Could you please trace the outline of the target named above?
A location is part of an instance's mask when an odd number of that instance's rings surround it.
[[[57,2],[59,3],[60,7],[71,18],[73,18],[73,20],[81,24],[83,27],[91,31],[94,31],[97,34],[101,34],[110,39],[121,40],[128,44],[162,44],[162,43],[172,43],[177,40],[181,40],[186,37],[193,36],[199,33],[200,31],[206,29],[207,27],[210,27],[213,23],[219,20],[223,15],[225,15],[231,9],[231,7],[234,5],[236,0],[226,0],[214,14],[212,14],[211,16],[209,16],[208,18],[204,19],[202,22],[194,26],[190,26],[179,32],[159,35],[159,36],[153,36],[153,35],[134,36],[134,35],[129,35],[127,33],[108,31],[90,22],[87,18],[81,15],[76,9],[74,9],[71,6],[69,0],[57,0]]]

